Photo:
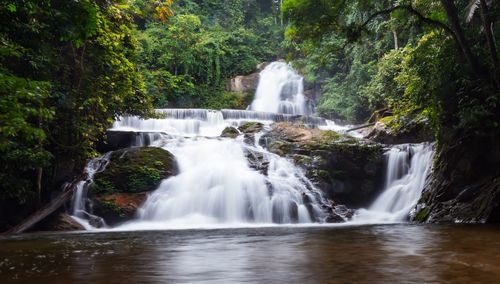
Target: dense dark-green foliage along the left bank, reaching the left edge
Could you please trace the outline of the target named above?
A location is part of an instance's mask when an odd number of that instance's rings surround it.
[[[0,199],[26,201],[36,173],[48,189],[115,117],[149,113],[137,43],[127,1],[0,3]]]

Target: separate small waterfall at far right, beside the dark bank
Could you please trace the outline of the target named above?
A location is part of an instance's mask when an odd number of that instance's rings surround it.
[[[358,223],[403,222],[417,204],[430,173],[432,144],[405,144],[387,153],[385,189],[366,210],[359,210],[353,219]]]

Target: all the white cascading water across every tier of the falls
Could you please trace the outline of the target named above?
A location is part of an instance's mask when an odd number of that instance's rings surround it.
[[[322,208],[331,206],[330,201],[302,169],[258,144],[263,132],[255,134],[254,145],[245,143],[242,135],[219,137],[224,128],[246,121],[261,122],[265,129],[277,121],[346,129],[321,118],[297,116],[312,111],[302,91],[302,78],[285,63],[275,62],[261,73],[252,111],[162,109],[158,110],[164,116],[161,119],[120,118],[111,130],[137,132],[131,146],[153,145],[170,151],[179,174],[164,180],[139,209],[137,219],[118,229],[321,223],[327,216]],[[260,163],[267,164],[266,173],[252,168],[249,155],[260,156]],[[358,210],[349,224],[400,222],[417,202],[431,164],[432,146],[395,147],[387,157],[386,189],[369,209]],[[91,162],[87,167],[89,178],[79,184],[73,201],[75,218],[88,216],[86,187],[103,165]]]

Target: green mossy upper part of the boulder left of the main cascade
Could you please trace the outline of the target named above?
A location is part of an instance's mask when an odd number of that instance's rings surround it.
[[[106,195],[151,191],[162,179],[176,173],[175,159],[164,149],[147,147],[120,150],[112,154],[106,169],[96,174],[90,192]]]

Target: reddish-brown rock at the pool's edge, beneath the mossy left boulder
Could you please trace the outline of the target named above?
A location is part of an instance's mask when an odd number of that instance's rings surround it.
[[[146,192],[97,196],[93,200],[94,214],[102,217],[107,225],[113,226],[133,219],[146,198]]]

